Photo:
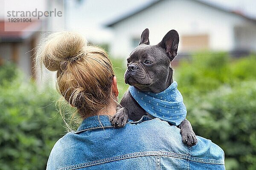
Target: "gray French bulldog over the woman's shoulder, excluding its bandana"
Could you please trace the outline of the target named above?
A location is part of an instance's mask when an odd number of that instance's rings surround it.
[[[149,30],[146,28],[141,34],[140,44],[127,59],[125,83],[134,86],[139,91],[157,94],[165,91],[173,83],[173,70],[170,62],[177,56],[179,34],[171,30],[157,45],[149,45],[148,37]],[[128,90],[111,121],[115,127],[124,127],[128,118],[138,121],[143,115],[154,117],[137,103]],[[184,119],[177,127],[180,128],[184,144],[193,146],[197,143],[188,120]]]

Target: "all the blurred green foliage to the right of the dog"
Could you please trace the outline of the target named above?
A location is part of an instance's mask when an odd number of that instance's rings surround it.
[[[225,152],[227,170],[256,169],[256,56],[195,54],[175,71],[195,133]]]

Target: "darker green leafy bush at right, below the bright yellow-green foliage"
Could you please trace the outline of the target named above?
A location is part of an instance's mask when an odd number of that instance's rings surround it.
[[[255,96],[256,81],[248,81],[221,86],[186,102],[195,133],[221,146],[227,170],[256,169]]]

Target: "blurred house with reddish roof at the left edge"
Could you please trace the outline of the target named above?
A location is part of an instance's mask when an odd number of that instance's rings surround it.
[[[19,31],[5,31],[5,26]],[[0,65],[12,61],[26,77],[35,75],[33,52],[40,34],[41,23],[9,23],[0,21]],[[30,52],[29,52],[30,51]]]

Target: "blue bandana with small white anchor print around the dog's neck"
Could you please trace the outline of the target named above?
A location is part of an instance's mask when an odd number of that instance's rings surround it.
[[[186,107],[175,81],[160,93],[139,91],[134,86],[130,86],[129,91],[138,104],[154,117],[175,126],[180,125],[186,118]]]

